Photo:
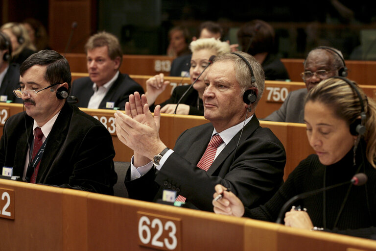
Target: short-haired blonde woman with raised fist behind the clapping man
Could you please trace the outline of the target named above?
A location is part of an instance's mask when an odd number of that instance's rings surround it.
[[[226,42],[221,42],[214,38],[203,38],[192,41],[189,46],[192,51],[192,57],[190,60],[189,76],[190,82],[193,83],[198,75],[204,70],[209,63],[211,55],[219,55],[226,52],[230,52],[230,46]],[[196,83],[190,88],[188,93],[181,100],[176,111],[177,114],[189,114],[189,115],[204,115],[204,105],[202,102],[202,95],[205,90],[204,78],[206,73],[202,74]],[[147,103],[154,110],[154,102],[157,97],[165,90],[166,86],[170,84],[170,81],[164,80],[164,74],[155,75],[146,80],[146,97]],[[176,107],[176,103],[183,94],[188,90],[190,85],[177,86],[171,98],[161,103],[162,113],[173,113]]]

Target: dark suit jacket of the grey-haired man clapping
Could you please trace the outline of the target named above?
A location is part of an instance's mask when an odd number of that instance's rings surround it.
[[[156,201],[162,198],[164,189],[169,189],[186,197],[189,207],[213,211],[214,186],[222,184],[231,188],[245,206],[252,208],[268,201],[283,183],[286,154],[282,143],[269,128],[260,127],[254,116],[244,127],[236,153],[240,131],[205,172],[196,165],[212,131],[209,123],[183,132],[159,172],[152,168],[130,181],[128,170],[125,185],[129,198]]]

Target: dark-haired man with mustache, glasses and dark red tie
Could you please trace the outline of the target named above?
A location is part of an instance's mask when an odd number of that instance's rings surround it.
[[[20,67],[17,98],[24,112],[5,123],[0,166],[30,183],[114,194],[117,181],[111,135],[92,116],[69,104],[67,59],[41,50]]]

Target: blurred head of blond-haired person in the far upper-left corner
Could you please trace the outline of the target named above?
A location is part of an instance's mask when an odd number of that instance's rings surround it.
[[[19,23],[6,23],[0,27],[6,33],[12,44],[12,62],[22,64],[26,58],[36,52],[24,25]]]

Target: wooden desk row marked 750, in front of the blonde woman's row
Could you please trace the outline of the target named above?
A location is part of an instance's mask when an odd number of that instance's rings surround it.
[[[72,73],[72,79],[77,79],[83,76],[88,76],[87,73]],[[136,82],[138,82],[142,88],[146,91],[146,80],[150,75],[130,75]],[[164,92],[158,96],[156,104],[162,103],[164,100],[170,98],[173,89],[179,85],[190,84],[189,78],[183,77],[165,77],[165,80],[169,80],[170,84],[167,85]],[[376,85],[360,85],[369,98],[376,97]],[[284,82],[284,81],[265,81],[265,89],[261,100],[258,102],[256,115],[259,119],[263,119],[273,111],[278,110],[283,101],[286,99],[289,92],[305,88],[304,82]]]

